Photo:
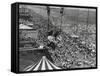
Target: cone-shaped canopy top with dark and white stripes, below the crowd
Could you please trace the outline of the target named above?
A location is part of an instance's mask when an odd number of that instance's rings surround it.
[[[32,64],[24,69],[24,71],[38,71],[38,70],[53,70],[60,69],[49,61],[46,56],[43,56],[39,62]]]

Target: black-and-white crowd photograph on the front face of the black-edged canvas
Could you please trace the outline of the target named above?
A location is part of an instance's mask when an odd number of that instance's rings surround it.
[[[19,4],[19,71],[97,67],[96,9]]]

